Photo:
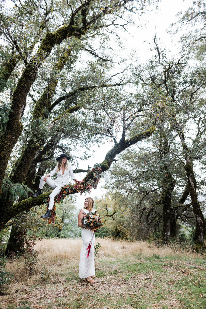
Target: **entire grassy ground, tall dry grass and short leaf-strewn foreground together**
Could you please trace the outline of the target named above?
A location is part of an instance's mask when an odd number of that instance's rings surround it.
[[[95,284],[78,276],[82,240],[43,240],[31,276],[25,260],[9,263],[15,277],[0,308],[205,309],[205,255],[145,242],[97,241],[102,247]]]

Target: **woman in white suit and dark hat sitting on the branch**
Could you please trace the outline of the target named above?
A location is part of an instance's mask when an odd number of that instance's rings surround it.
[[[72,167],[70,164],[68,164],[68,161],[70,158],[67,157],[65,154],[61,154],[57,158],[57,165],[51,171],[48,173],[48,175],[44,175],[41,177],[40,184],[39,184],[39,189],[37,190],[36,194],[33,195],[33,197],[37,197],[41,194],[41,190],[44,187],[45,182],[53,188],[52,193],[49,195],[49,205],[48,205],[48,210],[44,214],[44,216],[41,216],[42,219],[48,219],[51,218],[51,213],[52,213],[52,208],[54,205],[54,197],[60,193],[61,187],[64,186],[65,184],[68,184],[68,176],[70,174],[71,179],[74,180],[77,183],[77,180],[75,179]],[[54,174],[57,174],[57,179],[53,180],[51,179],[51,176]]]

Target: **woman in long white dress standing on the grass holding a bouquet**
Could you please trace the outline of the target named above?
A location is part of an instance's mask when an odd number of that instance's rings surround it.
[[[85,213],[89,213],[91,211],[95,211],[94,200],[92,197],[87,197],[84,201],[84,207],[80,210],[78,215],[78,226],[82,228],[82,218]],[[90,240],[92,238],[93,231],[89,229],[82,228],[82,248],[80,252],[80,260],[79,260],[79,277],[81,279],[86,278],[86,280],[90,283],[94,283],[95,281],[92,279],[92,276],[95,276],[95,235],[93,241],[91,243],[90,254],[87,257],[88,250],[86,250],[89,246]]]

